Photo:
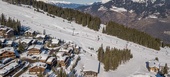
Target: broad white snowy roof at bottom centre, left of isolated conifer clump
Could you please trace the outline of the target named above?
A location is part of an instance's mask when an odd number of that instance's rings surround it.
[[[98,69],[99,69],[99,61],[96,60],[88,60],[86,62],[84,62],[84,69],[83,71],[93,71],[98,73]]]

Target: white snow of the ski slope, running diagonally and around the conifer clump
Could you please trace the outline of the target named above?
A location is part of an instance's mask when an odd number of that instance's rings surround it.
[[[101,65],[98,77],[133,77],[132,75],[139,73],[154,76],[153,73],[149,73],[146,69],[145,62],[155,57],[158,57],[160,62],[170,64],[170,48],[161,48],[160,51],[156,51],[117,37],[90,30],[74,22],[71,22],[71,24],[67,20],[63,22],[64,19],[59,17],[52,18],[35,12],[30,8],[11,5],[2,2],[2,0],[0,0],[0,13],[20,20],[22,25],[28,26],[32,30],[43,32],[45,29],[46,33],[53,37],[74,41],[86,51],[86,53],[83,52],[80,55],[84,62],[89,59],[97,61],[96,50],[101,44],[104,47],[110,46],[119,49],[123,49],[127,45],[127,48],[131,49],[133,58],[129,62],[120,65],[117,70],[109,72],[105,72],[103,65]],[[72,35],[73,29],[75,29],[74,36]],[[99,40],[98,37],[100,38]],[[94,50],[90,50],[89,47],[94,48]],[[83,67],[82,60],[76,67],[78,71]]]

